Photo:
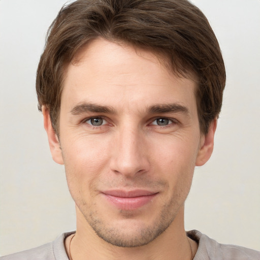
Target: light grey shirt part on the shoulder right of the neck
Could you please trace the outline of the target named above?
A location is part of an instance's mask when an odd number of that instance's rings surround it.
[[[260,252],[256,250],[220,244],[196,230],[187,232],[187,236],[199,243],[193,260],[260,260]]]

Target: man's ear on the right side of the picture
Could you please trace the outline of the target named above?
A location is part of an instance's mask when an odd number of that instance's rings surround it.
[[[214,147],[214,135],[217,127],[217,119],[215,118],[209,126],[207,134],[201,137],[200,149],[196,158],[196,166],[202,166],[209,160]]]

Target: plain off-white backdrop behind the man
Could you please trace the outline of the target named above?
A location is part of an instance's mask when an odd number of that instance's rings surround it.
[[[123,1],[123,0],[122,0]],[[0,254],[75,229],[64,169],[51,158],[35,75],[62,0],[0,0]],[[215,150],[196,169],[186,230],[260,250],[260,1],[193,0],[208,17],[227,83]]]

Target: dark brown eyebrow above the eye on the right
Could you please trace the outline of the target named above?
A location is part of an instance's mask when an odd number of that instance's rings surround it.
[[[190,115],[190,111],[180,104],[158,104],[153,105],[147,109],[149,114],[160,114],[160,113],[183,113]]]

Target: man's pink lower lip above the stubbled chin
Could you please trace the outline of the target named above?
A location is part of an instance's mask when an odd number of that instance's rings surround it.
[[[111,196],[108,194],[104,194],[104,195],[107,198],[107,200],[110,203],[114,204],[116,207],[122,210],[134,210],[148,204],[157,195],[157,193],[148,196],[140,196],[134,198],[121,198],[121,197]]]

